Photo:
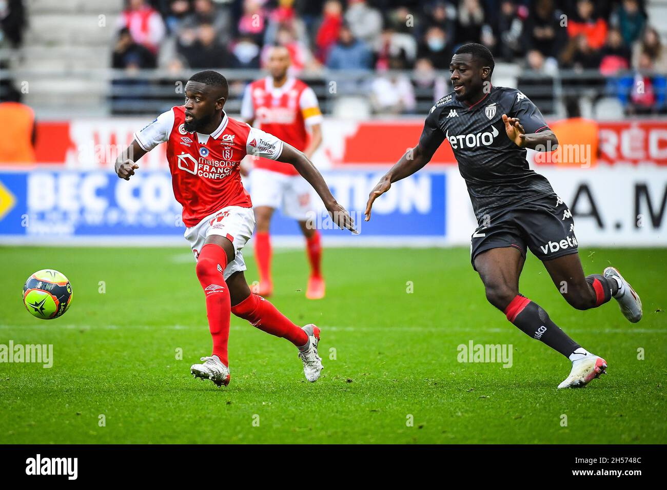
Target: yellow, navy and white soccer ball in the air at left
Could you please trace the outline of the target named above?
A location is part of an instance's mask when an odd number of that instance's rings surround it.
[[[28,277],[23,285],[23,305],[33,317],[57,318],[72,301],[72,286],[65,275],[53,269],[42,269]]]

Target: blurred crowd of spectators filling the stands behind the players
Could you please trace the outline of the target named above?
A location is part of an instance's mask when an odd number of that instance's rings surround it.
[[[585,85],[616,97],[627,113],[667,107],[667,47],[649,22],[645,0],[124,3],[111,67],[128,74],[260,69],[269,47],[283,45],[294,75],[325,69],[374,73],[370,85],[357,86],[370,93],[374,111],[414,113],[450,91],[452,53],[475,41],[488,46],[497,63],[516,66],[520,89],[546,113],[555,104],[554,77],[564,70],[594,73],[567,83],[575,91]],[[0,39],[18,45],[22,17],[21,0],[0,1]]]

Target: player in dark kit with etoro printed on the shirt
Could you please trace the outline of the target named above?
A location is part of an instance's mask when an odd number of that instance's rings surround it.
[[[572,361],[559,388],[584,386],[605,372],[606,361],[570,339],[544,309],[519,294],[526,250],[544,263],[576,309],[596,308],[614,297],[624,316],[636,322],[642,318],[642,302],[614,267],[584,276],[570,209],[526,161],[526,148],[556,149],[556,135],[523,93],[492,86],[493,69],[494,59],[483,45],[471,43],[456,51],[450,64],[454,93],[432,107],[418,145],[371,191],[366,221],[373,201],[392,183],[424,167],[448,139],[479,223],[471,261],[486,298],[516,327]]]

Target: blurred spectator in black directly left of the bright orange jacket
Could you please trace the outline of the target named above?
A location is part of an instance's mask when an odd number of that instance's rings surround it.
[[[540,51],[545,58],[557,59],[567,37],[561,15],[562,11],[554,8],[554,0],[537,0],[526,19],[524,45]]]

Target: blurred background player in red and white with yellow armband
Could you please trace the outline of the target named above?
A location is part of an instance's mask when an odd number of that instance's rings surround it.
[[[270,76],[245,88],[241,118],[311,158],[322,141],[322,115],[313,89],[287,75],[289,65],[287,48],[271,47],[267,60]],[[273,211],[279,208],[283,215],[298,221],[305,236],[311,269],[305,296],[309,299],[323,297],[321,239],[317,229],[307,226],[307,213],[313,209],[307,182],[292,165],[267,158],[259,158],[253,163],[250,191],[257,219],[255,260],[259,269],[259,294],[269,295],[273,290],[269,225]]]

